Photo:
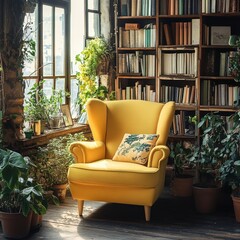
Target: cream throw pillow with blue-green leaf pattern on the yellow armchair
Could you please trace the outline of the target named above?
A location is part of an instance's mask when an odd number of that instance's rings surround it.
[[[158,134],[126,133],[113,156],[113,160],[146,165],[148,155],[157,139]]]

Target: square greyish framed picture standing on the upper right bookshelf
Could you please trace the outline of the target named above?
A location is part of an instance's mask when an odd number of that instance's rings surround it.
[[[228,45],[230,35],[231,35],[230,26],[212,26],[211,45]]]

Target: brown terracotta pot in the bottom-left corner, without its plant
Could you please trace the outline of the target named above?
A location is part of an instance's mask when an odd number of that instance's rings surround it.
[[[5,237],[22,239],[28,236],[31,227],[32,212],[24,217],[21,213],[0,212],[2,231]]]

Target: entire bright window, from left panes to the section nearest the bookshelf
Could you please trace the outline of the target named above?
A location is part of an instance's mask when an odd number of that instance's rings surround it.
[[[30,22],[32,31],[25,32],[25,37],[36,43],[36,56],[24,63],[25,98],[33,84],[44,79],[48,96],[52,88],[70,92],[66,101],[75,117],[79,114],[74,104],[78,98],[75,56],[87,39],[100,35],[100,0],[43,0],[34,13],[27,14],[25,26]]]

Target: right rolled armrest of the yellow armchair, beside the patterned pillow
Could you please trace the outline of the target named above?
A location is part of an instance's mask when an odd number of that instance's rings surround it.
[[[160,168],[161,163],[167,160],[170,150],[166,145],[155,146],[148,157],[148,167]]]

